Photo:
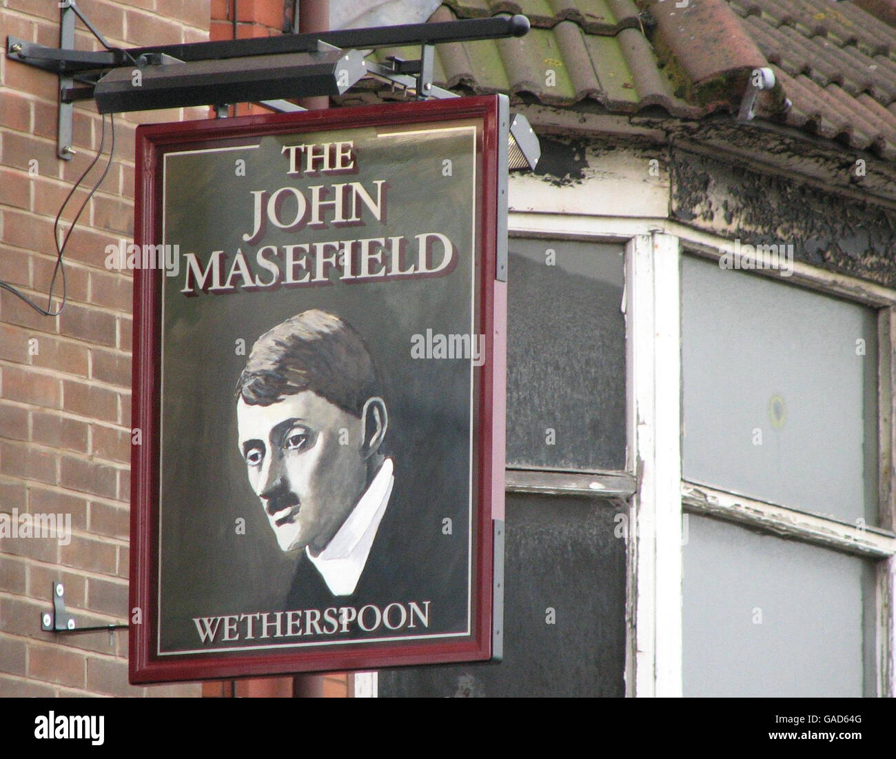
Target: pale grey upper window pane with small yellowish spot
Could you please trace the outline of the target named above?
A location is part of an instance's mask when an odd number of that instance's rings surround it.
[[[685,479],[876,524],[874,309],[691,256],[681,291]]]

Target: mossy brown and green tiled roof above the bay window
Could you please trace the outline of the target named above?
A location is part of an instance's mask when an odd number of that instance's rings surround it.
[[[444,3],[431,21],[523,11],[533,29],[522,38],[437,46],[442,86],[700,118],[719,107],[737,110],[749,72],[771,65],[777,85],[763,93],[758,117],[896,160],[896,28],[882,21],[892,11],[896,23],[896,0],[689,0],[686,8],[642,0],[656,20],[650,39],[631,0]],[[375,56],[418,53],[409,47]]]

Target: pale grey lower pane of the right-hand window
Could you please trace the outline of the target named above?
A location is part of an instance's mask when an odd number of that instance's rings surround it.
[[[871,562],[694,514],[686,524],[685,696],[863,695]]]

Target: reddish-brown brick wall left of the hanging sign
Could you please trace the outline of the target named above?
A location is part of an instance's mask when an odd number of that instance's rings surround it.
[[[80,7],[113,45],[209,37],[211,0]],[[4,49],[6,35],[58,45],[58,13],[49,0],[4,0]],[[76,37],[79,49],[99,49],[81,22]],[[53,219],[100,136],[96,108],[77,105],[78,152],[56,159],[56,82],[0,57],[0,280],[43,306],[55,263]],[[105,246],[132,240],[135,126],[207,115],[188,108],[116,116],[112,168],[66,249],[62,315],[39,315],[0,291],[0,512],[69,514],[73,530],[65,546],[0,539],[0,695],[201,693],[196,684],[129,686],[125,631],[112,644],[107,633],[43,633],[39,615],[52,608],[52,582],[61,580],[79,626],[127,619],[132,281],[107,271]],[[65,219],[85,196],[86,189],[75,195]]]

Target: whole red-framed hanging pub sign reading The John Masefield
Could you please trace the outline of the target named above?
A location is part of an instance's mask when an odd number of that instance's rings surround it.
[[[138,128],[132,683],[492,657],[506,120]]]

